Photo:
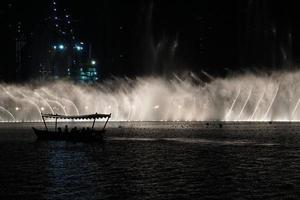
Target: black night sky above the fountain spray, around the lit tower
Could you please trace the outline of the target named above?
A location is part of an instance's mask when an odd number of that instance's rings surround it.
[[[2,80],[16,76],[15,30],[28,38],[30,79],[43,58],[52,1],[1,2]],[[101,77],[168,75],[205,70],[295,68],[299,63],[300,14],[296,1],[271,0],[57,0],[72,16],[76,37],[92,44]]]

